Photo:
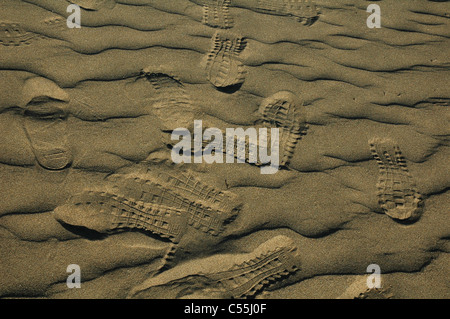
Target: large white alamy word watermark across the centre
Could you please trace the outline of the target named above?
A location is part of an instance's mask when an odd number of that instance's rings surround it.
[[[193,134],[187,128],[177,128],[172,132],[172,141],[179,142],[173,147],[171,157],[177,164],[247,162],[260,165],[261,174],[275,174],[280,163],[279,134],[279,128],[270,129],[270,138],[268,128],[227,128],[224,139],[220,129],[203,131],[203,122],[195,120]],[[206,146],[205,141],[209,141]]]

